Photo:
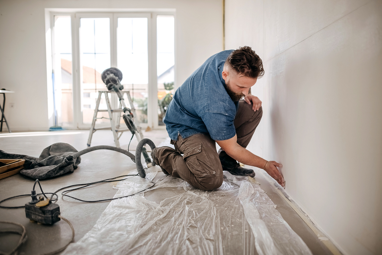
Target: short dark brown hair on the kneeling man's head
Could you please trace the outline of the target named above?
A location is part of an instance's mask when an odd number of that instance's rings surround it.
[[[264,75],[261,58],[249,46],[239,47],[231,52],[225,64],[251,78],[261,78]]]

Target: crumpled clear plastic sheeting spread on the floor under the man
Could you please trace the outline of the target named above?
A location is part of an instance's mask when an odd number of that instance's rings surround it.
[[[158,167],[149,170],[152,180]],[[209,192],[166,176],[149,191],[112,200],[93,229],[63,254],[312,254],[259,183],[224,175],[223,185]],[[114,186],[115,197],[150,184],[131,177]],[[155,192],[165,194],[159,204],[145,198]]]

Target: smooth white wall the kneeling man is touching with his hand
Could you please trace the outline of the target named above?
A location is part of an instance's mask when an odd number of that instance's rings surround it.
[[[225,48],[243,45],[265,69],[248,148],[343,253],[382,254],[382,1],[225,0]]]

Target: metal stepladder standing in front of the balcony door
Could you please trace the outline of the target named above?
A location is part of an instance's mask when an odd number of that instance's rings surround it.
[[[142,128],[139,126],[139,121],[138,121],[138,119],[135,118],[136,117],[136,112],[135,112],[133,100],[131,100],[131,97],[130,97],[130,91],[120,91],[120,92],[121,92],[122,96],[125,93],[127,95],[127,98],[129,100],[130,107],[131,107],[130,110],[131,110],[131,112],[133,113],[133,116],[134,116],[133,121],[134,121],[136,130],[138,131],[138,132],[135,132],[135,136],[137,138],[137,141],[141,141],[144,137],[143,137],[143,134],[142,134]],[[90,132],[89,132],[89,139],[87,140],[87,146],[88,147],[90,147],[90,144],[91,144],[91,141],[92,141],[92,136],[93,136],[93,133],[95,131],[102,130],[102,129],[104,129],[104,130],[105,129],[110,129],[113,132],[115,146],[118,147],[118,148],[121,148],[121,146],[119,144],[119,138],[121,137],[123,132],[129,131],[129,129],[126,128],[126,127],[120,128],[121,112],[123,113],[121,102],[119,103],[119,108],[118,109],[112,109],[112,106],[110,104],[110,99],[108,97],[108,93],[116,94],[114,91],[98,91],[98,98],[97,98],[97,102],[95,104],[93,121],[92,121],[92,125],[90,127]],[[100,101],[101,101],[102,94],[105,95],[105,101],[106,101],[107,109],[100,110],[98,108],[99,108],[99,104],[100,104]],[[97,113],[98,112],[108,112],[109,118],[105,118],[105,117],[97,118]],[[115,117],[115,115],[113,115],[115,113],[118,113],[118,117],[117,118]],[[111,127],[95,128],[95,122],[97,121],[97,119],[110,119]],[[119,135],[118,135],[118,133],[119,133]]]

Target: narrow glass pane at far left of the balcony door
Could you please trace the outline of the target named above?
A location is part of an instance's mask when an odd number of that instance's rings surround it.
[[[59,126],[73,125],[73,76],[70,16],[54,17],[54,110]]]

